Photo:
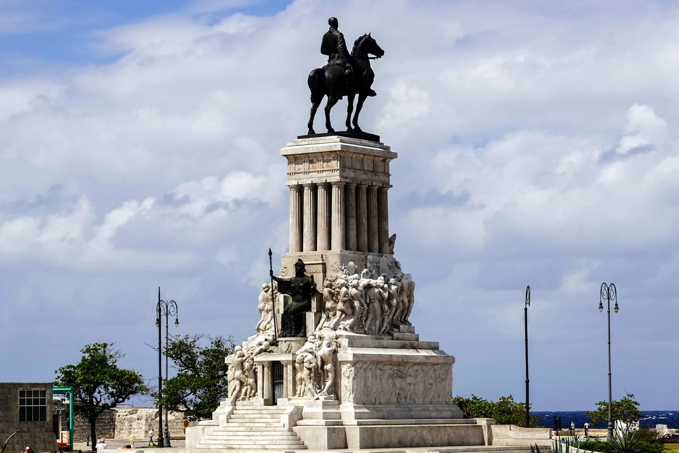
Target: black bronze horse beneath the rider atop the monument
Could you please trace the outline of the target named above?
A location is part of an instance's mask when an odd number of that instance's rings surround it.
[[[374,55],[374,57],[369,57],[369,55]],[[308,134],[316,133],[314,132],[314,116],[320,101],[323,101],[323,96],[328,96],[328,101],[325,104],[325,128],[327,128],[328,132],[335,132],[330,124],[330,111],[337,101],[342,99],[342,96],[347,96],[348,101],[346,113],[347,132],[362,132],[359,127],[359,113],[361,113],[365,98],[375,96],[375,92],[371,88],[375,79],[375,73],[373,73],[370,67],[370,60],[384,56],[384,50],[378,46],[378,43],[370,36],[370,33],[366,33],[354,41],[351,56],[353,60],[351,62],[351,75],[348,75],[348,71],[345,72],[344,67],[340,65],[327,66],[325,69],[317,68],[309,74],[311,116],[309,117]],[[351,121],[356,94],[359,95],[359,102],[356,104],[354,120]],[[354,125],[353,128],[352,124]]]

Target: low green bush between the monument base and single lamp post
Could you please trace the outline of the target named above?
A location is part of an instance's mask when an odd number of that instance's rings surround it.
[[[455,397],[453,402],[462,403],[467,414],[476,418],[494,418],[497,424],[515,424],[517,427],[526,427],[526,403],[517,403],[513,395],[500,397],[497,402],[471,395],[471,398]],[[528,411],[530,413],[530,408]],[[539,427],[539,415],[530,416],[529,428]]]

